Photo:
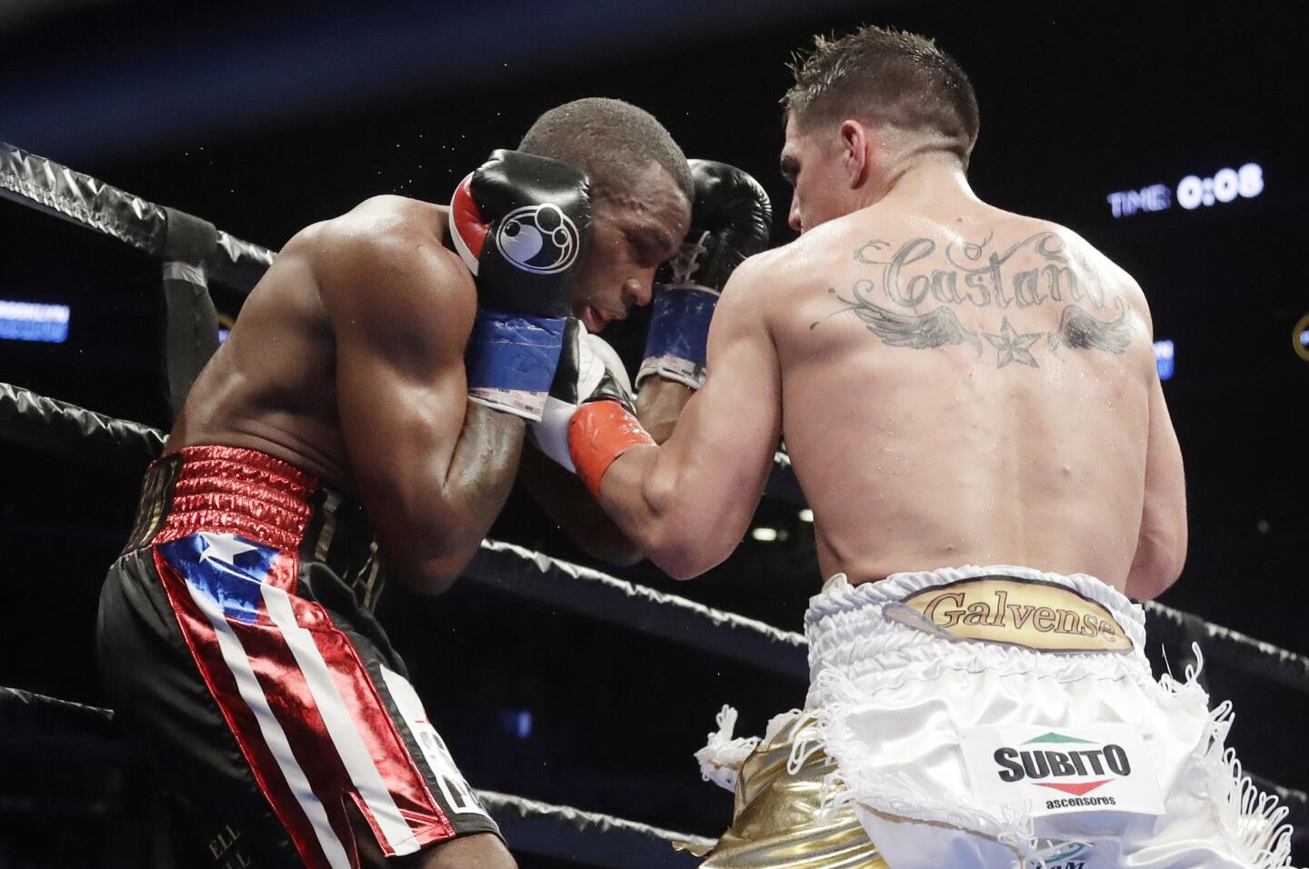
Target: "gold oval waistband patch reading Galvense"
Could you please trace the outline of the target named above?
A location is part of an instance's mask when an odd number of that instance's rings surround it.
[[[1132,641],[1105,606],[1056,582],[979,576],[932,585],[886,615],[953,640],[986,640],[1042,652],[1130,652]]]

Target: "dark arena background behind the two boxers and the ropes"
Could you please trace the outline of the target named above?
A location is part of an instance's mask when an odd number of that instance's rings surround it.
[[[1305,653],[1309,363],[1292,346],[1309,313],[1309,187],[1292,132],[1302,41],[1272,4],[1141,5],[46,0],[0,10],[0,139],[276,249],[374,194],[444,202],[545,109],[613,96],[653,111],[689,154],[755,174],[783,243],[776,101],[789,52],[861,22],[933,35],[979,94],[977,192],[1101,247],[1145,288],[1156,336],[1175,343],[1164,389],[1191,546],[1161,601]],[[1246,162],[1263,168],[1254,199],[1110,215],[1114,191],[1175,188]],[[0,202],[0,298],[72,306],[64,344],[0,340],[0,380],[166,427],[158,287],[144,255]],[[215,296],[236,313],[240,297]],[[640,317],[615,327],[614,343],[637,353],[641,328]],[[96,598],[131,520],[136,469],[113,475],[9,446],[0,457],[0,684],[102,703]],[[695,582],[648,564],[607,569],[798,630],[819,584],[812,531],[775,500],[758,521],[787,539],[747,538]],[[492,537],[586,561],[521,495]],[[393,585],[382,614],[475,787],[702,835],[730,814],[691,758],[713,713],[730,701],[738,733],[758,733],[804,698],[800,682],[471,584],[432,599]],[[1219,667],[1210,678],[1236,701],[1230,742],[1245,764],[1309,787],[1304,696]],[[123,856],[134,840],[115,826],[117,802],[148,784],[4,737],[0,868],[148,862]]]

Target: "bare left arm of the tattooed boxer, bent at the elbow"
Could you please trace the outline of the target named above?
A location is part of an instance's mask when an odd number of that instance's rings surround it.
[[[637,446],[601,482],[600,503],[645,555],[677,578],[723,561],[754,516],[780,438],[781,376],[747,262],[709,327],[704,386],[661,446]],[[753,297],[753,298],[751,298]]]

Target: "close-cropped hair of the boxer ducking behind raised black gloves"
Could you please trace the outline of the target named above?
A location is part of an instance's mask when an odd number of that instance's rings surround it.
[[[622,99],[586,97],[537,118],[518,151],[552,157],[590,177],[592,199],[637,194],[640,174],[658,164],[695,202],[686,154],[654,115]]]

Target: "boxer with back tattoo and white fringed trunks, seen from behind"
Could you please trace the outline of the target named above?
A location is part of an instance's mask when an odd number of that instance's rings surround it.
[[[724,709],[698,758],[737,823],[704,865],[1287,865],[1275,801],[1224,755],[1228,707],[1153,679],[1127,597],[1168,589],[1187,541],[1140,287],[973,192],[977,101],[931,41],[864,27],[793,69],[800,238],[726,283],[673,431],[585,398],[542,423],[677,578],[736,548],[780,441],[813,510],[809,696],[762,739]],[[1098,741],[1136,773],[996,779],[1022,739]]]

